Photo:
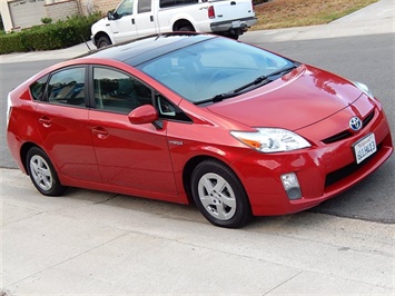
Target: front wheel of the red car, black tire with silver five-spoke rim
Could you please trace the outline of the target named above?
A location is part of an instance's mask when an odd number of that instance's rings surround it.
[[[217,160],[205,160],[195,168],[191,191],[203,216],[216,226],[238,228],[253,216],[240,180],[230,168]]]

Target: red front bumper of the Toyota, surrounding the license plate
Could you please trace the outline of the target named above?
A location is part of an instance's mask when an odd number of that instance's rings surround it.
[[[322,122],[325,125],[325,122]],[[319,126],[303,130],[314,134]],[[355,161],[353,145],[373,132],[377,151],[361,162]],[[246,188],[256,216],[285,215],[317,206],[350,188],[375,171],[392,155],[393,144],[385,114],[376,109],[369,124],[358,134],[333,144],[315,142],[294,152],[251,152],[233,164]],[[290,200],[280,181],[284,174],[295,172],[302,198]]]

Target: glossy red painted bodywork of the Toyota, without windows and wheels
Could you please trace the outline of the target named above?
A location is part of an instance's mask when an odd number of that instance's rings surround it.
[[[29,87],[36,80],[75,65],[87,67],[86,96],[91,106],[33,100]],[[142,106],[130,115],[96,109],[96,81],[90,76],[93,65],[118,69],[146,83],[152,89],[154,108]],[[158,96],[179,108],[184,119],[161,117]],[[282,215],[316,206],[361,181],[393,152],[389,126],[377,99],[348,80],[304,65],[267,86],[199,106],[127,63],[87,57],[38,73],[11,91],[10,100],[7,139],[24,172],[26,147],[38,146],[65,186],[188,204],[194,167],[213,158],[237,175],[254,215]],[[353,116],[366,120],[357,132],[349,128]],[[310,147],[264,154],[230,135],[256,127],[292,130]],[[348,136],[327,141],[339,132]],[[377,152],[352,174],[328,182],[336,171],[355,164],[353,146],[369,134],[375,135]],[[284,190],[280,176],[288,172],[298,178],[300,199],[289,200]]]

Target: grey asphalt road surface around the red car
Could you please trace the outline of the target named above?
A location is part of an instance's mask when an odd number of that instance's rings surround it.
[[[284,56],[368,85],[382,100],[395,138],[395,42],[394,34],[333,38],[256,45]],[[14,168],[6,145],[7,93],[37,71],[60,60],[1,65],[0,72],[0,167]],[[310,211],[395,224],[395,157],[345,194]]]

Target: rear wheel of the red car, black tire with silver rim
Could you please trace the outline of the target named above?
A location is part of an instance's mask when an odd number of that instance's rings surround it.
[[[40,148],[30,148],[26,158],[26,167],[32,184],[42,195],[60,196],[67,189],[60,184],[52,162]]]

